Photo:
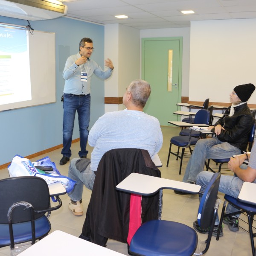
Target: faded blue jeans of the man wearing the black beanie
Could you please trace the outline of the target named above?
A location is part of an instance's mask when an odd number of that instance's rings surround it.
[[[230,158],[233,155],[241,154],[239,148],[230,143],[222,142],[217,137],[201,139],[195,144],[195,148],[186,166],[183,182],[195,182],[198,173],[204,171],[206,159]]]

